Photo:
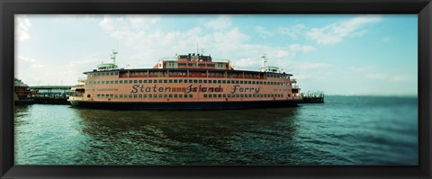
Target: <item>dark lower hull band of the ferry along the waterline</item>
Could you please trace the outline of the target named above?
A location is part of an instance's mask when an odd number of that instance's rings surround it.
[[[247,108],[284,108],[297,106],[302,100],[268,100],[236,102],[95,102],[70,101],[72,105],[86,108],[118,110],[211,110]]]

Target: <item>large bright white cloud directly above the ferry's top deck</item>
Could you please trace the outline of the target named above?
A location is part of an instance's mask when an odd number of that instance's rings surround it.
[[[119,23],[123,25],[119,26]],[[264,53],[269,59],[267,65],[283,67],[284,63],[294,58],[297,53],[315,50],[315,47],[301,44],[284,44],[284,46],[275,47],[253,44],[250,41],[252,37],[246,32],[231,26],[228,16],[219,17],[211,22],[202,22],[201,25],[191,26],[183,31],[175,29],[155,31],[146,27],[135,28],[130,24],[130,18],[124,16],[105,16],[100,22],[104,31],[127,46],[123,49],[128,49],[128,54],[119,51],[124,55],[123,59],[127,60],[119,60],[124,63],[119,65],[120,67],[126,65],[153,67],[157,59],[172,58],[175,53],[187,54],[197,51],[201,53],[204,49],[204,53],[211,54],[213,58],[229,59],[236,69],[256,70],[261,67],[261,56]],[[213,26],[216,24],[219,24],[217,27],[220,28]],[[202,27],[212,28],[209,31]],[[197,43],[199,43],[199,48]]]

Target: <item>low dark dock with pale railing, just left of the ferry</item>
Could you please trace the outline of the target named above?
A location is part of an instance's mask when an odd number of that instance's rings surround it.
[[[34,91],[34,103],[69,104],[67,98],[72,94],[73,85],[38,85],[30,86]]]

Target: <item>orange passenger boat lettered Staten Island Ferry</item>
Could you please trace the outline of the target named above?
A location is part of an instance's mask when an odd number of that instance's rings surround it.
[[[152,68],[119,68],[112,63],[84,72],[68,101],[109,109],[239,109],[296,106],[302,102],[292,74],[278,67],[235,70],[229,60],[189,53],[162,58]]]

